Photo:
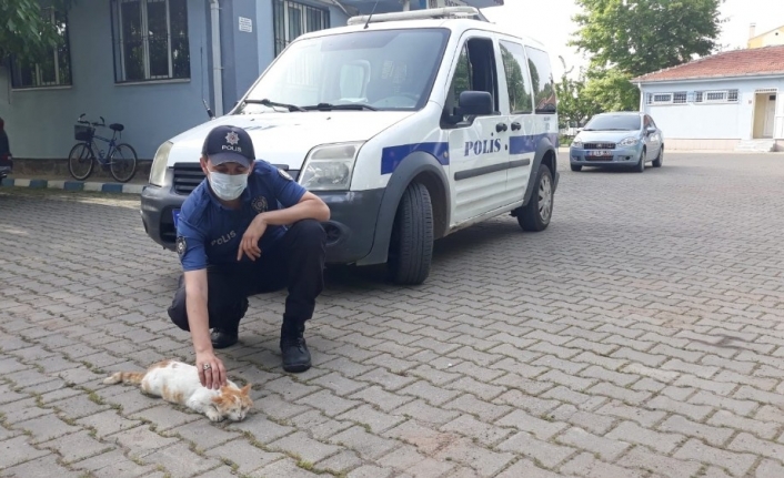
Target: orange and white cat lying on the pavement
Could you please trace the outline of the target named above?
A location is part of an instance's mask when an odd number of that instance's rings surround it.
[[[139,385],[142,393],[184,405],[212,421],[224,418],[242,421],[253,406],[248,395],[250,384],[240,388],[227,380],[227,385],[213,390],[201,385],[197,367],[177,360],[160,362],[147,372],[117,372],[104,378],[103,383]]]

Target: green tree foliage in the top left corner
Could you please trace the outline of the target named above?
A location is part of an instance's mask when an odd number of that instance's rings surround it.
[[[71,3],[72,0],[49,2],[59,12],[67,12]],[[59,27],[44,13],[38,0],[0,1],[0,61],[13,55],[21,62],[34,63],[60,45]]]

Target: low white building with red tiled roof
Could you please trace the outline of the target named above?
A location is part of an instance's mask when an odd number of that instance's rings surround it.
[[[718,53],[632,81],[669,150],[784,151],[784,45]]]

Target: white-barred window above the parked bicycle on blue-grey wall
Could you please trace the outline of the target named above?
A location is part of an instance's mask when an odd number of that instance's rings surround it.
[[[113,0],[114,81],[191,77],[187,0]]]

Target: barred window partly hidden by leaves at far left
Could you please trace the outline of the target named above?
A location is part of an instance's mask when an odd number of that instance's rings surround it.
[[[52,48],[39,63],[13,61],[13,88],[62,87],[71,84],[71,55],[68,44],[68,18],[51,8],[41,9],[41,17],[52,22],[62,43]]]

